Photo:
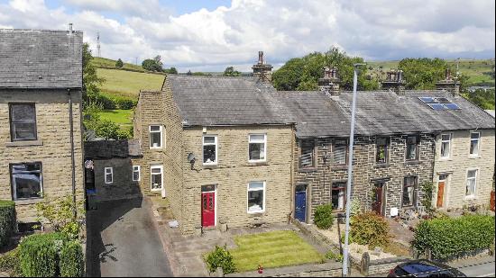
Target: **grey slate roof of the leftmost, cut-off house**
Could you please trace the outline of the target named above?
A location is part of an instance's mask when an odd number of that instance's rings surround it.
[[[0,29],[0,88],[81,88],[83,32]]]

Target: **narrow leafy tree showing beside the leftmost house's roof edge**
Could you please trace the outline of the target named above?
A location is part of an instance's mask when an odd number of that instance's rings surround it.
[[[95,102],[100,90],[98,85],[105,82],[104,78],[96,76],[96,67],[91,63],[93,55],[89,44],[83,44],[83,105]],[[83,106],[83,108],[84,108]]]

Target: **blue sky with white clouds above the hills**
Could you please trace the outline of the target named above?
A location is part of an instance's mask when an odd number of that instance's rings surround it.
[[[494,58],[494,0],[0,0],[0,28],[84,31],[96,56],[251,71],[338,47],[365,60]]]

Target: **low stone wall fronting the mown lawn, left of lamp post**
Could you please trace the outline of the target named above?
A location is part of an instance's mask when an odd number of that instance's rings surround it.
[[[258,271],[226,274],[225,277],[340,277],[341,263],[328,262],[320,265],[295,265]]]

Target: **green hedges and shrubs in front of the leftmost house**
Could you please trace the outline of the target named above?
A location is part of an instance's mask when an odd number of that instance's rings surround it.
[[[82,277],[84,254],[79,232],[82,218],[73,217],[68,198],[37,204],[39,220],[51,232],[15,232],[15,204],[0,201],[0,273],[21,277]],[[84,215],[79,211],[79,215]],[[39,227],[40,228],[40,227]],[[16,241],[13,238],[21,238]],[[2,253],[3,252],[3,253]]]

